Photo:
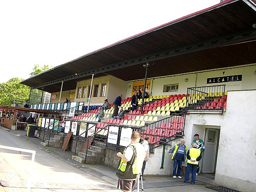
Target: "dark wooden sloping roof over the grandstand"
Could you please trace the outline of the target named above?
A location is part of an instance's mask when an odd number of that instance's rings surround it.
[[[49,93],[76,89],[76,82],[111,75],[124,81],[235,67],[256,62],[256,6],[226,0],[90,52],[21,82]],[[77,75],[76,75],[77,74]]]

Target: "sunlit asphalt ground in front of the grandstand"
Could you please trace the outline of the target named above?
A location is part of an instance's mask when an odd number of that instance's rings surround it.
[[[36,151],[30,179],[31,154],[0,148],[0,191],[25,192],[119,192],[116,169],[104,164],[88,165],[73,161],[73,152],[44,147],[41,139],[26,137],[24,130],[0,128],[0,145]],[[145,175],[144,192],[214,192],[200,181],[186,184],[172,176]],[[134,189],[137,191],[137,189]],[[141,191],[141,186],[140,186]]]

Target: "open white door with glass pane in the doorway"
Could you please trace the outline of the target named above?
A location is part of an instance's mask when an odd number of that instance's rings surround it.
[[[214,173],[218,154],[219,130],[206,128],[206,140],[204,141],[203,173]]]

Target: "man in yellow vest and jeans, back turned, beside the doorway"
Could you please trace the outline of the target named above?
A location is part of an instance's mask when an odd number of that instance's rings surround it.
[[[189,151],[186,154],[186,157],[188,159],[188,163],[187,163],[184,182],[189,183],[189,174],[192,169],[191,184],[195,184],[198,161],[201,160],[202,158],[202,152],[197,148],[196,143],[192,143],[192,148],[189,149]]]

